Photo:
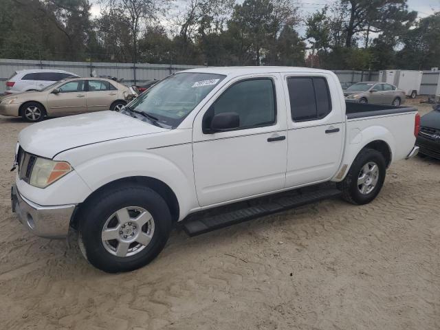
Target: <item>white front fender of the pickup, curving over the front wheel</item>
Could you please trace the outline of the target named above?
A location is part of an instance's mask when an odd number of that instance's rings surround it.
[[[180,149],[190,146],[180,146]],[[175,150],[175,155],[192,155],[190,150]],[[120,152],[102,155],[89,159],[75,167],[76,172],[89,186],[91,191],[109,184],[112,181],[126,177],[152,177],[168,185],[175,193],[179,202],[181,217],[186,216],[188,210],[198,207],[195,192],[192,157],[190,162],[183,162],[177,166],[172,160],[163,155],[148,152]],[[188,168],[190,166],[190,168]],[[83,196],[83,201],[88,197]]]

